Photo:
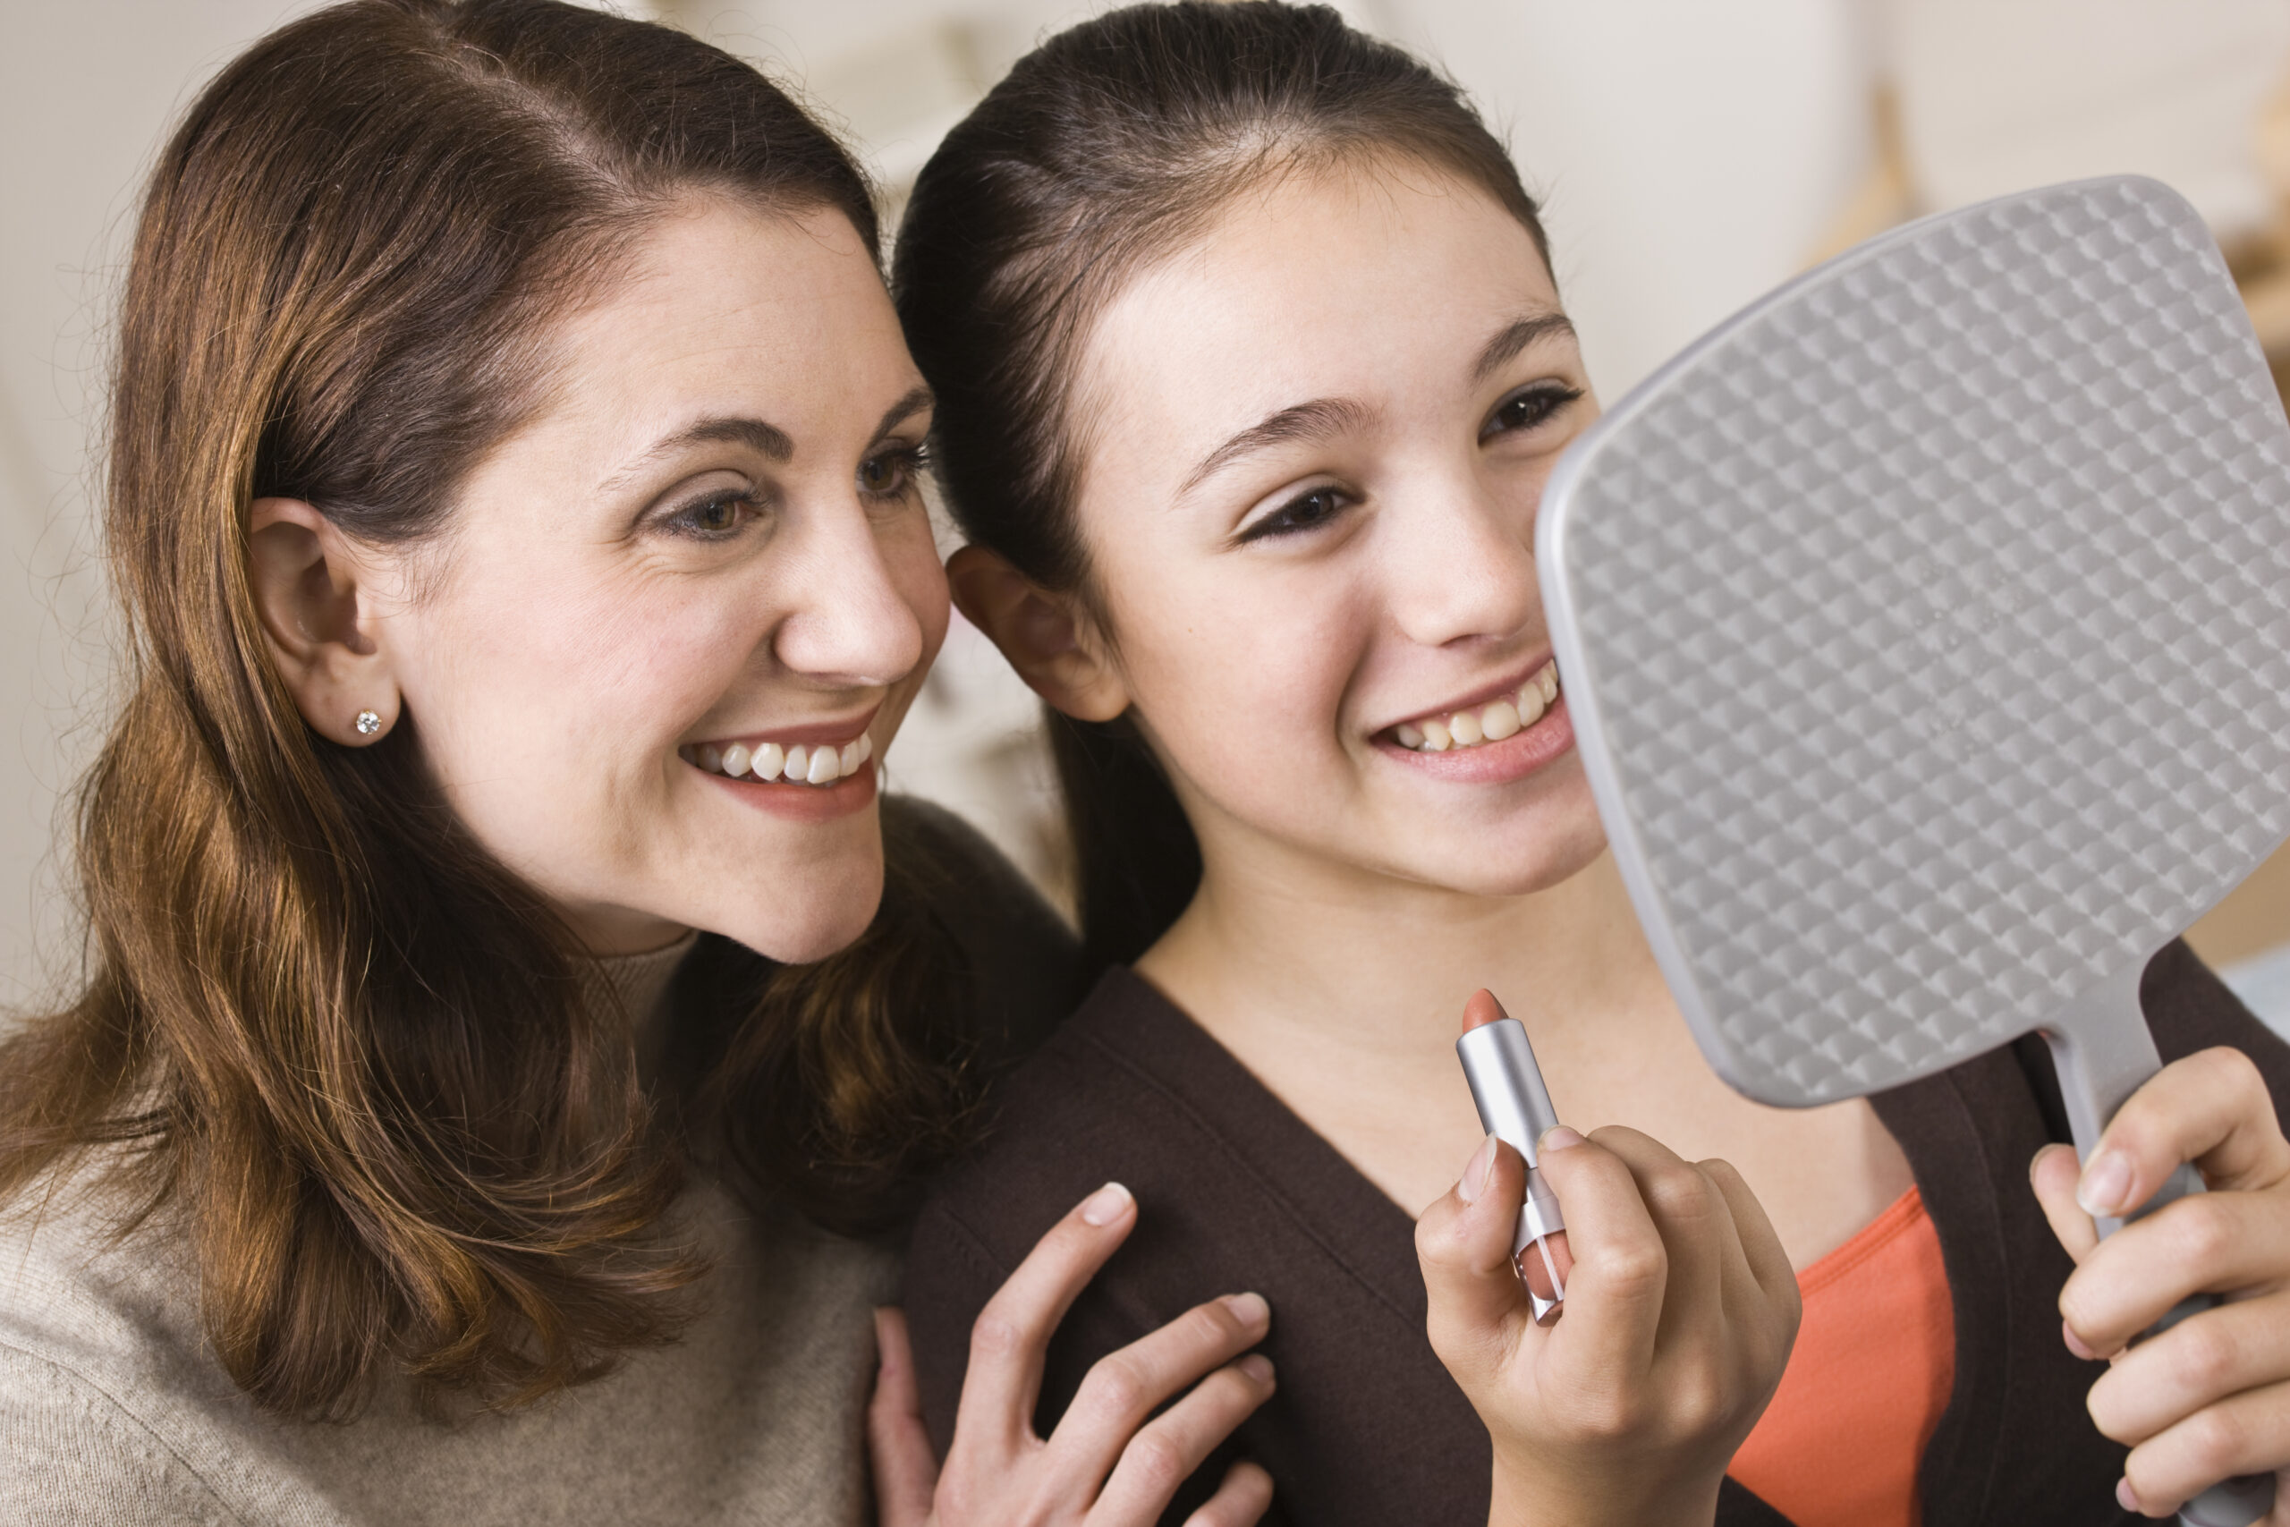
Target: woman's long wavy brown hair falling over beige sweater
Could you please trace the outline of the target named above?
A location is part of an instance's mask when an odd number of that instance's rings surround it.
[[[124,1234],[167,1213],[213,1351],[270,1410],[355,1413],[392,1369],[479,1403],[595,1376],[676,1328],[698,1268],[657,1220],[692,1154],[863,1225],[964,1117],[962,966],[911,854],[820,966],[705,939],[740,1021],[705,1092],[655,1103],[417,717],[321,739],[254,614],[252,499],[435,536],[545,403],[552,321],[692,195],[877,240],[863,174],[760,73],[556,0],[295,21],[151,176],[105,483],[128,698],[78,797],[92,975],[0,1046],[0,1200],[92,1163]]]

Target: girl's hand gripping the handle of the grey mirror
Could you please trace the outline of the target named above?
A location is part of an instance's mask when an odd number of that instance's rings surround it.
[[[2098,1239],[2093,1213],[2121,1218],[2187,1161],[2208,1193]],[[2059,1293],[2068,1351],[2111,1360],[2088,1406],[2132,1449],[2125,1509],[2171,1516],[2221,1479],[2290,1465],[2290,1142],[2251,1058],[2210,1049],[2166,1065],[2088,1163],[2050,1145],[2031,1177],[2077,1261]],[[2194,1293],[2226,1303],[2132,1346]],[[2290,1525],[2290,1472],[2267,1520]]]

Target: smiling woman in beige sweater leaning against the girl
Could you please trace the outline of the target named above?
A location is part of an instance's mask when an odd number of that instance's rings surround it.
[[[0,1518],[854,1522],[872,1445],[891,1522],[1134,1522],[1269,1392],[1211,1300],[1033,1435],[1106,1188],[943,1479],[895,1319],[866,1426],[889,1232],[1060,989],[877,797],[948,609],[875,243],[760,76],[552,0],[353,0],[192,105],[119,325],[92,975],[0,1053]]]

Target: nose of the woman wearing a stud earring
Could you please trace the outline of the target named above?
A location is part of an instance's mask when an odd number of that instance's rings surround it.
[[[895,685],[923,662],[923,620],[914,609],[918,579],[937,575],[937,556],[902,556],[866,508],[850,504],[811,515],[799,547],[788,547],[790,614],[772,636],[772,655],[795,673],[834,687]],[[909,568],[907,563],[916,565]],[[930,568],[921,568],[927,561]]]

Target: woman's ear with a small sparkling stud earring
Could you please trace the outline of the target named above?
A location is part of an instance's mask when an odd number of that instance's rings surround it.
[[[369,565],[341,529],[300,499],[254,499],[247,570],[270,657],[311,730],[344,746],[398,721],[398,682],[376,641]]]

